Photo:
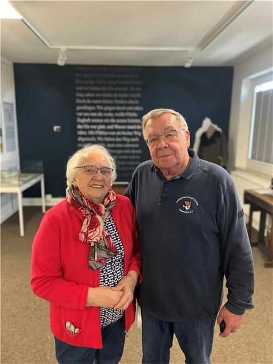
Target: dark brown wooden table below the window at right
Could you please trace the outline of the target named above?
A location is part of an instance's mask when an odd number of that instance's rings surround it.
[[[266,194],[259,193],[259,190],[245,190],[244,192],[244,203],[250,204],[249,209],[249,220],[247,225],[247,231],[249,240],[251,241],[252,231],[252,214],[253,211],[260,211],[260,224],[259,224],[259,235],[258,241],[251,243],[251,245],[264,244],[264,229],[265,229],[265,216],[268,213],[271,217],[273,215],[273,198]],[[271,233],[268,242],[267,258],[264,266],[273,267],[273,229],[271,225]]]

